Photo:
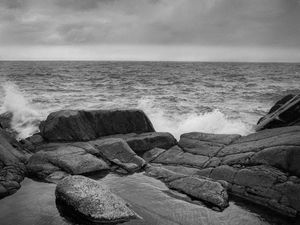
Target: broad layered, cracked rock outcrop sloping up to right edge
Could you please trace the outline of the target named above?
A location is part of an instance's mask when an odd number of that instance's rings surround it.
[[[148,161],[175,173],[223,180],[234,195],[289,216],[300,212],[300,126],[245,137],[188,133],[179,146],[154,153]]]

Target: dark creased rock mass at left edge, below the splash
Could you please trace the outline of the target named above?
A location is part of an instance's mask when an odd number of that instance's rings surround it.
[[[15,193],[25,176],[27,156],[18,142],[0,128],[0,198]]]

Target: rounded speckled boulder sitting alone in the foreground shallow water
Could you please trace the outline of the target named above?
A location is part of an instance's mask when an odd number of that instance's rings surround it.
[[[58,183],[56,199],[84,219],[97,223],[121,223],[139,216],[106,186],[83,176],[68,176]]]

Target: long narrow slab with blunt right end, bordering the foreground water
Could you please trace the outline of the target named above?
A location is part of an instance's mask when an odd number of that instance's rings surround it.
[[[149,176],[162,180],[171,189],[208,202],[220,209],[228,206],[226,188],[219,182],[200,176],[187,176],[163,167],[149,166],[146,173]]]

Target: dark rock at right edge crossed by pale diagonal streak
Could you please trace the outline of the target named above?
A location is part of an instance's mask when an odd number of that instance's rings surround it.
[[[279,109],[282,105],[287,103],[289,100],[291,100],[295,95],[287,95],[277,101],[275,105],[270,109],[270,111],[262,118],[259,119],[257,124],[259,125],[260,122],[268,117],[271,113],[275,112],[277,109]],[[277,128],[277,127],[286,127],[286,126],[300,126],[300,102],[289,108],[284,113],[280,114],[279,119],[273,120],[272,122],[268,123],[266,126],[264,126],[262,129],[271,129],[271,128]]]

